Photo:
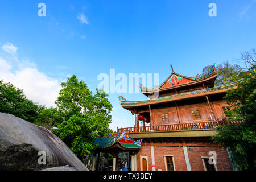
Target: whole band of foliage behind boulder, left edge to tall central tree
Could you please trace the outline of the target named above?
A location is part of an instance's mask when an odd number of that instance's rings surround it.
[[[28,100],[22,89],[3,80],[0,80],[0,101],[0,112],[13,114],[47,129],[51,129],[54,123],[60,120],[56,108],[48,109]]]

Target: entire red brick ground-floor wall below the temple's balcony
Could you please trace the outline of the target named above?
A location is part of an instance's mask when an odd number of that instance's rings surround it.
[[[220,147],[191,147],[193,151],[188,150],[189,162],[192,171],[204,171],[203,161],[201,156],[209,156],[209,151],[216,151],[217,154],[217,169],[218,171],[230,171],[232,166],[230,163],[228,152],[224,148]],[[162,147],[154,146],[155,154],[155,169],[165,170],[164,155],[174,156],[174,164],[176,171],[186,171],[187,166],[185,163],[185,157],[183,147]],[[147,156],[148,158],[148,170],[152,171],[151,162],[151,150],[150,146],[142,146],[137,153],[137,170],[141,170],[140,156]]]

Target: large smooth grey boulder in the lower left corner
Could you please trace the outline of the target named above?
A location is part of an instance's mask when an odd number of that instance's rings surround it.
[[[46,156],[46,164],[42,164],[43,156]],[[51,131],[14,115],[0,113],[0,170],[58,169],[88,171]]]

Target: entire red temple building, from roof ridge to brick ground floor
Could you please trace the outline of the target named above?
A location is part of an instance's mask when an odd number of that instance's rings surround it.
[[[211,137],[217,126],[231,122],[225,117],[225,110],[230,108],[223,97],[239,81],[214,87],[216,65],[207,75],[196,77],[180,75],[172,66],[171,69],[171,75],[159,86],[152,89],[141,85],[148,100],[127,101],[119,97],[121,106],[135,116],[134,126],[117,128],[116,136],[109,136],[111,142],[96,142],[98,150],[112,151],[115,156],[129,152],[131,169],[137,171],[232,170],[228,151],[213,143]],[[133,146],[121,144],[124,141],[118,138],[123,135],[133,138]],[[133,143],[135,140],[138,145]]]

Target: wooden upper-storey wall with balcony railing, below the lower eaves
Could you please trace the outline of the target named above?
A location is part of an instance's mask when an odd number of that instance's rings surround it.
[[[225,110],[229,105],[222,100],[223,94],[195,98],[191,100],[170,102],[149,106],[137,111],[133,127],[119,128],[118,131],[128,133],[147,133],[159,131],[199,131],[215,130],[217,126],[228,123]],[[150,118],[139,121],[139,115]],[[147,120],[146,120],[147,121]],[[240,122],[240,121],[238,121]]]

